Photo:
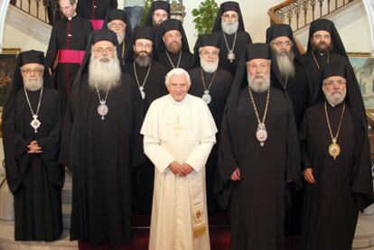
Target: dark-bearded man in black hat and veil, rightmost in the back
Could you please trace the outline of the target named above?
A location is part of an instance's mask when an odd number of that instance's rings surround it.
[[[323,67],[331,62],[341,61],[350,65],[339,32],[332,21],[318,19],[311,23],[308,48],[303,55],[303,60],[305,69],[309,72],[311,79],[312,103],[316,103],[319,101],[317,99],[318,93],[322,88]]]

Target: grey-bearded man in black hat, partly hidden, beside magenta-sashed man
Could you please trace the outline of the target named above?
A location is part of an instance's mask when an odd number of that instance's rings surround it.
[[[106,16],[108,29],[116,32],[118,41],[118,50],[125,63],[128,52],[131,50],[132,28],[127,22],[126,12],[123,10],[109,10]]]

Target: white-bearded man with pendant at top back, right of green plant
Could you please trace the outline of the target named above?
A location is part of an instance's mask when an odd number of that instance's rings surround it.
[[[228,1],[220,5],[211,32],[220,38],[220,67],[235,77],[240,55],[246,45],[252,43],[237,2]]]

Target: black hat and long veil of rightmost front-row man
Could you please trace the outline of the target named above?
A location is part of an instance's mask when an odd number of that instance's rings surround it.
[[[326,64],[323,67],[323,79],[332,76],[341,76],[347,81],[345,103],[351,110],[356,140],[351,190],[355,196],[357,208],[363,210],[374,202],[374,197],[372,196],[372,164],[369,152],[368,121],[366,119],[365,106],[359,83],[349,62],[341,61]],[[320,99],[325,99],[322,88],[320,89]]]

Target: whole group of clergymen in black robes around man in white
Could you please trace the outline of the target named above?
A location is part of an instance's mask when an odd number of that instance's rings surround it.
[[[3,113],[15,240],[61,236],[67,166],[79,249],[127,249],[132,211],[151,208],[149,249],[210,249],[208,211],[226,209],[233,250],[283,249],[285,221],[300,226],[302,213],[302,249],[351,249],[372,170],[334,24],[311,23],[301,55],[287,24],[252,44],[229,1],[192,54],[167,2],[134,31],[107,2],[79,0],[106,14],[89,23],[60,0],[46,57],[18,56]]]

